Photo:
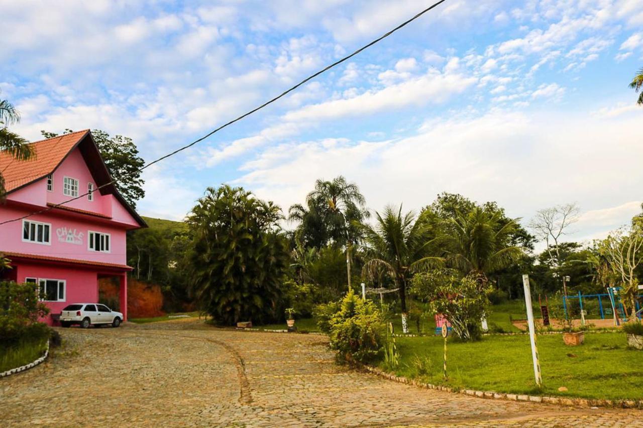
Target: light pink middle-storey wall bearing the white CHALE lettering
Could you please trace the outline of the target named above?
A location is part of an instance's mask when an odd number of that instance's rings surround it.
[[[30,212],[30,210],[24,208],[0,206],[0,222],[10,218],[21,217]],[[60,211],[57,211],[56,215],[53,215],[50,211],[33,215],[29,219],[51,224],[50,245],[23,242],[23,221],[20,220],[0,225],[0,252],[13,251],[15,253],[37,254],[40,256],[126,264],[125,229],[122,227],[100,224],[92,221],[94,219],[89,216],[87,216],[87,220],[69,218]],[[77,237],[75,242],[77,243],[66,242],[65,235],[62,235],[65,229],[75,231],[75,236]],[[89,230],[111,235],[110,253],[99,253],[89,249]],[[58,233],[63,236],[62,239],[59,238]]]

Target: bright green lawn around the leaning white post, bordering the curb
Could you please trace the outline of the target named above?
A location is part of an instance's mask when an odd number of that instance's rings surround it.
[[[448,382],[442,379],[443,346],[441,337],[397,338],[401,355],[397,375],[459,389],[643,398],[643,352],[628,349],[622,333],[586,334],[582,346],[565,346],[561,335],[538,336],[542,391],[534,382],[528,335],[487,336],[477,343],[450,341]],[[568,391],[559,392],[561,386]]]

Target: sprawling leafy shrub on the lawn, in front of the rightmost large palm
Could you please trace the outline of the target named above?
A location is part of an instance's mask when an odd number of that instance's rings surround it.
[[[473,275],[462,276],[453,269],[440,269],[416,274],[412,290],[429,301],[433,313],[448,319],[460,339],[480,339],[480,319],[489,307],[487,295],[491,292],[485,281]]]

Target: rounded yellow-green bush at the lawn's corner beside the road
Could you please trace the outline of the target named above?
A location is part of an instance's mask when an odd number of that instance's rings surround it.
[[[381,355],[385,323],[372,301],[363,301],[350,290],[329,325],[330,346],[338,361],[371,362]]]

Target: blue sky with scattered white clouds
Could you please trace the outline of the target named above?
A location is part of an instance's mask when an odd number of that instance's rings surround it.
[[[15,127],[99,128],[152,160],[408,19],[422,1],[0,0]],[[442,191],[528,220],[577,202],[574,240],[640,211],[640,0],[447,0],[264,111],[150,168],[143,215],[182,218],[206,186],[287,209],[343,174],[368,206]]]

